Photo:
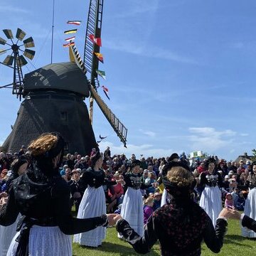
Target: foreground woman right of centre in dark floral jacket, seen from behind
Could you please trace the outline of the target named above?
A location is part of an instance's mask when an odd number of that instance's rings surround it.
[[[188,171],[188,166],[169,163],[164,186],[169,193],[169,203],[157,209],[144,225],[144,235],[139,236],[119,216],[117,231],[139,253],[149,252],[159,240],[161,255],[201,255],[201,242],[213,252],[219,252],[223,246],[223,237],[227,221],[220,214],[213,228],[207,213],[191,200],[191,191],[196,182]]]

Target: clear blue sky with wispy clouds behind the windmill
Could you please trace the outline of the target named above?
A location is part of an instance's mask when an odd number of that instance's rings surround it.
[[[128,129],[127,149],[95,107],[95,137],[112,153],[169,156],[202,150],[225,159],[255,148],[256,2],[105,0],[102,48],[110,101]],[[63,31],[78,28],[83,53],[89,0],[55,0],[53,63],[68,61]],[[52,1],[1,0],[1,29],[33,36],[36,68],[50,63]],[[68,20],[82,20],[70,26]],[[0,31],[4,38],[4,33]],[[0,47],[3,48],[3,47]],[[4,55],[0,56],[0,61]],[[30,63],[23,73],[32,71]],[[0,65],[0,85],[12,80]],[[1,89],[0,143],[11,132],[21,102]],[[88,102],[86,100],[85,102]]]

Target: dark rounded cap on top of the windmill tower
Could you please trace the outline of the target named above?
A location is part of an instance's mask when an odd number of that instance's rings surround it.
[[[35,90],[67,90],[89,97],[86,76],[75,63],[55,63],[25,75],[24,93]]]

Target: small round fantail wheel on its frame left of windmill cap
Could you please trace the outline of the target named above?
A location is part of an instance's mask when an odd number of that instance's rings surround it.
[[[7,48],[0,49],[0,55],[4,53],[7,53],[8,55],[4,61],[0,63],[13,68],[14,80],[11,84],[4,85],[2,87],[12,86],[12,93],[17,95],[17,98],[19,97],[21,100],[21,96],[23,95],[23,73],[21,67],[28,63],[26,58],[33,60],[36,52],[28,48],[33,48],[35,44],[32,37],[23,40],[23,38],[26,36],[26,33],[22,31],[21,28],[17,28],[16,39],[14,38],[11,29],[4,29],[3,31],[8,41],[6,41],[4,38],[0,38],[0,44],[7,46]],[[23,44],[21,41],[23,41]],[[24,58],[24,56],[26,58]]]

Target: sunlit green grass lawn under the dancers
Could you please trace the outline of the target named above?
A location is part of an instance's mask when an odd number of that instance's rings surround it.
[[[240,223],[237,220],[228,220],[228,233],[225,235],[224,245],[218,255],[230,256],[252,256],[256,255],[256,240],[242,238],[240,235]],[[182,242],[182,241],[181,241]],[[117,238],[117,231],[115,228],[107,228],[107,238],[102,242],[102,246],[95,249],[82,247],[78,244],[73,244],[73,255],[82,256],[107,256],[107,255],[139,255],[132,249],[128,242],[119,240]],[[147,255],[161,255],[159,250],[159,243],[152,248]],[[215,255],[210,252],[205,244],[202,245],[202,255]]]

